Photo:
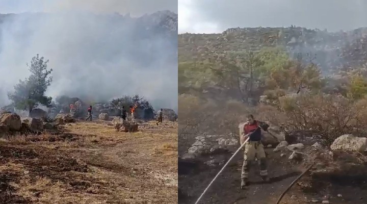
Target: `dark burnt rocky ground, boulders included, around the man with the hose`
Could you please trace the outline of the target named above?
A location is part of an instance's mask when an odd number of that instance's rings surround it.
[[[266,153],[270,182],[265,184],[261,181],[258,166],[254,163],[250,186],[245,190],[240,189],[243,162],[243,151],[240,151],[199,203],[276,203],[281,193],[313,163],[280,203],[367,203],[367,157],[365,151],[360,151],[367,147],[366,138],[342,136],[331,146],[322,142],[310,145],[311,139],[301,141],[304,145],[300,141],[293,141],[290,145],[281,142],[276,148],[269,145]],[[223,143],[222,140],[217,140],[218,144],[219,141]],[[229,142],[232,140],[230,137],[227,139]],[[193,155],[189,152],[179,159],[179,203],[195,203],[232,156],[232,147],[223,149],[223,146],[217,146],[218,149],[211,153]]]

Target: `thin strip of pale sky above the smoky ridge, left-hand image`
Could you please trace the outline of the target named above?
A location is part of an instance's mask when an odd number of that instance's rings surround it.
[[[84,10],[141,16],[160,10],[177,13],[177,0],[0,0],[0,13]]]

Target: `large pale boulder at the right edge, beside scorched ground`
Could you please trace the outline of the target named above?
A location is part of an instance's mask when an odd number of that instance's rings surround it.
[[[353,135],[342,135],[334,140],[330,148],[332,150],[366,151],[367,138]]]

